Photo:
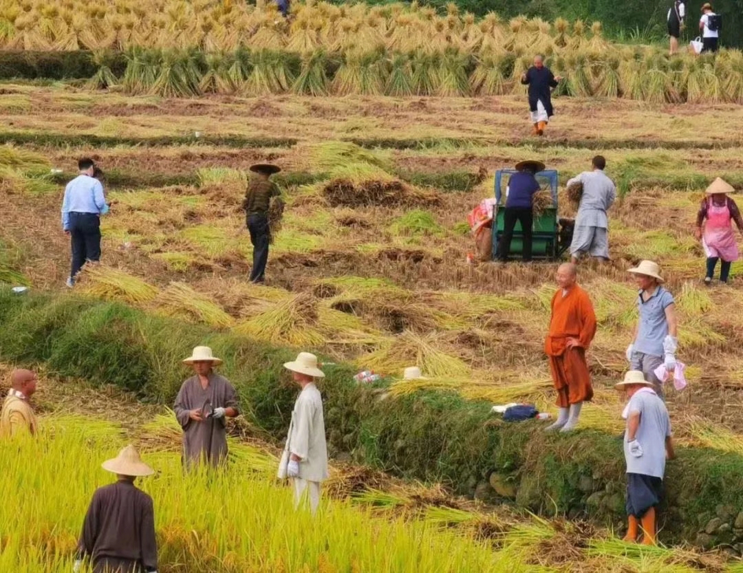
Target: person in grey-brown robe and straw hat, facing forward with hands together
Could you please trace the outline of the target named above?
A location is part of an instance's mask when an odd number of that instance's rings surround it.
[[[184,430],[184,466],[207,462],[216,467],[227,459],[226,418],[239,413],[237,395],[230,381],[214,372],[222,361],[209,346],[196,346],[183,362],[195,372],[181,385],[173,407]]]

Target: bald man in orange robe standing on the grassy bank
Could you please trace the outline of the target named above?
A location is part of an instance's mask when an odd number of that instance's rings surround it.
[[[547,430],[568,432],[577,426],[583,402],[594,396],[585,351],[596,334],[596,314],[588,294],[576,284],[574,264],[560,265],[556,278],[559,288],[552,297],[545,354],[550,359],[559,415]]]

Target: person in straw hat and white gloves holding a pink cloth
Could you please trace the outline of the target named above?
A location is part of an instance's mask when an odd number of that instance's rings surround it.
[[[627,360],[632,370],[639,370],[653,384],[655,393],[663,398],[663,383],[655,370],[666,366],[666,371],[676,369],[678,349],[678,321],[676,320],[673,295],[663,287],[663,277],[658,265],[642,261],[629,269],[635,276],[637,288],[637,310],[640,319],[632,332],[632,343],[627,347]]]

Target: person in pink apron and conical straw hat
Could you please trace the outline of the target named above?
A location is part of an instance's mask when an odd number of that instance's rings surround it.
[[[732,221],[736,221],[738,230],[743,233],[743,217],[736,202],[728,196],[728,193],[734,191],[732,185],[719,177],[716,178],[710,187],[707,187],[697,213],[695,236],[701,239],[704,254],[707,256],[705,285],[712,283],[718,261],[720,282],[727,283],[730,264],[738,260],[738,243]]]

